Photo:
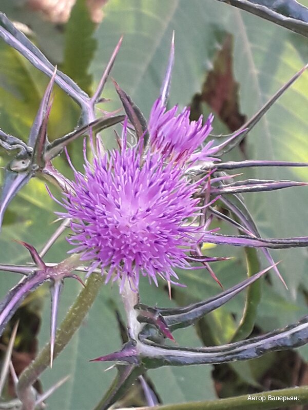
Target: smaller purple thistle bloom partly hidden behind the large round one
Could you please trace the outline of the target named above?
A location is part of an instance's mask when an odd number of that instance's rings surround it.
[[[210,140],[202,147],[203,142],[213,129],[214,116],[209,115],[203,125],[202,115],[198,121],[190,121],[190,109],[184,108],[177,114],[178,106],[166,110],[163,101],[158,98],[151,109],[149,118],[150,144],[165,159],[174,161],[213,161],[218,160],[210,155],[214,144]]]

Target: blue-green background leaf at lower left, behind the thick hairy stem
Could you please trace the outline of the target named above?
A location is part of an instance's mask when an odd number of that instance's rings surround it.
[[[80,284],[68,279],[61,298],[60,319],[67,313],[78,294]],[[94,357],[110,353],[121,346],[117,320],[110,300],[117,300],[118,290],[103,286],[89,314],[69,345],[54,361],[41,380],[45,389],[66,375],[70,379],[47,401],[50,410],[85,410],[94,407],[106,392],[115,376],[115,370],[105,372],[108,364],[90,363]],[[43,312],[41,347],[49,340],[50,305]],[[60,323],[60,321],[59,321]]]

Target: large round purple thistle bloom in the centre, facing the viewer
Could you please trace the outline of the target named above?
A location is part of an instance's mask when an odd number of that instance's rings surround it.
[[[120,150],[85,158],[85,173],[65,194],[61,217],[72,218],[72,252],[91,260],[89,273],[107,269],[106,282],[126,279],[138,289],[139,276],[157,284],[157,275],[178,279],[174,268],[189,267],[187,253],[196,248],[202,229],[188,220],[199,215],[197,184],[189,183],[180,165],[165,164],[159,153],[126,147],[126,124]]]

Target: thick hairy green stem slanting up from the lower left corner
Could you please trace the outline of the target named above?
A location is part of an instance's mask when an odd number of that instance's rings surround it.
[[[56,358],[70,341],[74,333],[79,329],[92,303],[98,295],[100,285],[104,279],[101,274],[91,274],[86,287],[80,292],[75,302],[63,320],[57,331],[54,344],[54,358]],[[17,395],[25,403],[31,397],[31,386],[38,377],[46,370],[50,363],[50,344],[46,344],[36,359],[23,371],[17,384]],[[23,410],[33,410],[34,406],[28,405]]]

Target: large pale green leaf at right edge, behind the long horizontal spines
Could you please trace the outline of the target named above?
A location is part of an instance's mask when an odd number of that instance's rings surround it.
[[[252,115],[292,73],[304,65],[307,52],[296,49],[301,44],[299,36],[276,27],[259,22],[257,17],[243,15],[238,10],[233,13],[241,32],[235,33],[236,77],[241,84],[242,110]],[[261,25],[262,23],[262,25]],[[277,40],[279,39],[279,41]],[[301,160],[308,156],[306,138],[308,103],[307,73],[288,90],[278,103],[247,138],[247,152],[254,159]],[[254,177],[269,179],[307,180],[306,170],[258,170]],[[276,193],[247,195],[249,209],[254,215],[261,233],[268,237],[304,235],[303,221],[307,220],[307,209],[302,204],[308,200],[307,189],[285,190]],[[305,272],[305,256],[298,250],[277,252],[277,259],[283,259],[281,272],[294,298],[299,282]],[[275,283],[278,281],[275,280]],[[282,285],[277,283],[281,293]],[[290,296],[288,296],[290,298]]]

